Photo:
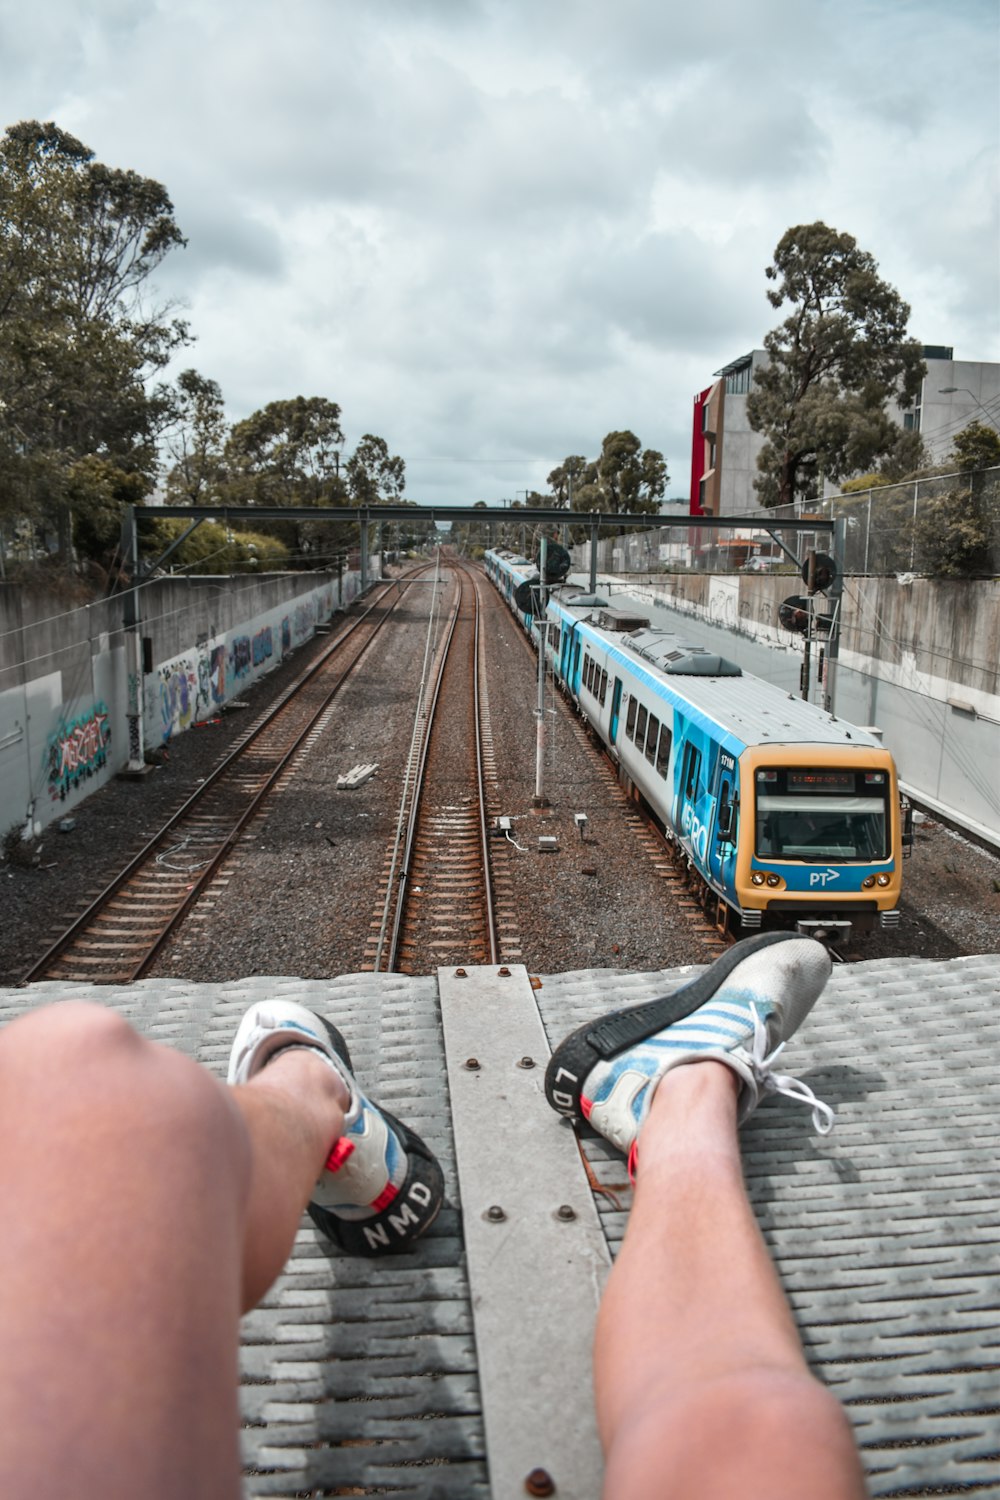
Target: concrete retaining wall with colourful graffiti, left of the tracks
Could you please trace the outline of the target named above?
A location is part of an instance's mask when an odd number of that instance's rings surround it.
[[[151,664],[145,746],[216,714],[360,585],[355,570],[150,580],[139,591]],[[121,596],[73,608],[0,586],[0,836],[15,825],[40,831],[127,764],[123,610]]]

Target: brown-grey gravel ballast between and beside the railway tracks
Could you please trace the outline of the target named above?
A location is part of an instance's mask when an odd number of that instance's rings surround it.
[[[223,868],[207,912],[154,972],[192,981],[252,974],[321,978],[363,969],[397,814],[432,590],[409,590],[409,628],[385,633],[312,738],[250,840]],[[505,910],[502,958],[553,974],[580,968],[652,970],[705,963],[715,951],[670,908],[652,842],[607,760],[595,756],[568,706],[546,696],[546,807],[535,792],[535,668],[519,627],[486,591],[484,642],[493,741],[490,808],[511,819],[493,836]],[[382,638],[379,638],[382,639]],[[172,741],[139,782],[111,782],[72,808],[73,828],[49,826],[37,848],[0,867],[4,918],[0,982],[18,982],[87,898],[153,836],[247,732],[265,705],[325,648],[300,648],[223,712]],[[355,764],[378,772],[352,792],[336,777]],[[586,816],[583,832],[577,814]],[[540,844],[540,838],[553,840]],[[502,840],[502,850],[498,848]],[[183,864],[184,850],[172,852]],[[904,870],[901,926],[858,939],[862,958],[952,958],[1000,951],[1000,858],[919,819]]]

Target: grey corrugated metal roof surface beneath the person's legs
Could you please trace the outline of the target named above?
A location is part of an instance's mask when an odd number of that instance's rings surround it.
[[[543,978],[549,1044],[693,972]],[[495,974],[468,970],[472,1008]],[[46,982],[0,990],[0,1022],[84,996],[222,1076],[243,1010],[276,994],[343,1028],[373,1096],[439,1154],[448,1206],[417,1252],[391,1264],[339,1257],[303,1221],[283,1275],[243,1324],[246,1492],[490,1500],[436,976]],[[480,1014],[489,1026],[489,1005]],[[522,1077],[540,1086],[535,1062]],[[871,1494],[1000,1494],[1000,958],[840,966],[783,1066],[837,1110],[837,1128],[817,1137],[808,1112],[765,1102],[742,1132],[748,1191],[807,1358],[846,1402]],[[565,1132],[555,1118],[552,1130]],[[540,1125],[532,1152],[547,1144]],[[615,1254],[625,1166],[600,1137],[585,1131],[582,1144],[615,1194],[595,1196]],[[532,1170],[522,1182],[525,1212],[544,1208]],[[505,1210],[516,1228],[522,1202]],[[552,1412],[553,1426],[580,1419],[583,1408]]]

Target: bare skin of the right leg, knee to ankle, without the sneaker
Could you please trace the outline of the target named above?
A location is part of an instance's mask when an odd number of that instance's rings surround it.
[[[736,1077],[675,1068],[642,1131],[595,1342],[606,1494],[855,1500],[850,1425],[808,1372],[747,1200]]]

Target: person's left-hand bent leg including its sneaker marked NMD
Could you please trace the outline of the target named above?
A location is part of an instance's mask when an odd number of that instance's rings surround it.
[[[441,1202],[433,1156],[328,1035],[253,1008],[226,1088],[100,1006],[3,1029],[0,1494],[240,1492],[238,1320],[303,1209],[378,1254]]]

